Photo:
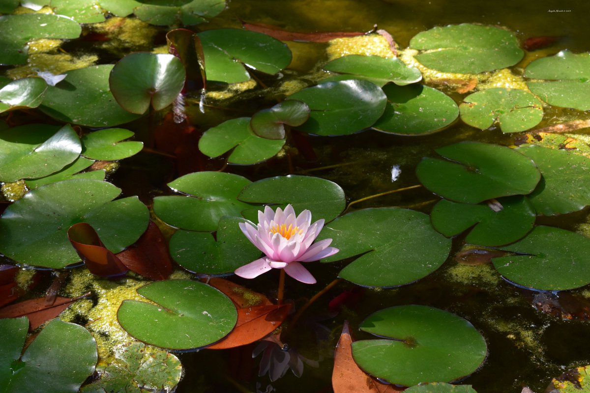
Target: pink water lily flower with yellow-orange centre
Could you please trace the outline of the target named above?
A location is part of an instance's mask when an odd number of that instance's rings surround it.
[[[299,262],[312,262],[339,251],[329,247],[332,239],[312,244],[323,226],[323,219],[312,224],[312,213],[309,210],[303,210],[296,216],[290,204],[285,210],[278,207],[276,213],[266,206],[264,213],[258,212],[258,226],[250,222],[240,223],[244,235],[266,256],[239,267],[235,274],[243,278],[255,278],[273,268],[284,269],[285,273],[300,282],[315,283],[312,273]]]

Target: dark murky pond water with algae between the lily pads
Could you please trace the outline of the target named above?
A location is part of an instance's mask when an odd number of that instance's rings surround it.
[[[512,31],[519,42],[525,42],[530,37],[558,37],[555,44],[526,52],[522,63],[509,67],[515,74],[522,74],[523,67],[530,61],[556,54],[563,49],[574,53],[590,52],[590,25],[587,21],[589,12],[590,4],[583,1],[514,1],[499,4],[491,0],[231,0],[221,14],[210,19],[207,24],[198,25],[196,31],[241,28],[241,21],[300,32],[366,32],[376,26],[389,32],[402,49],[407,48],[412,37],[419,32],[437,26],[462,23],[504,27]],[[150,44],[152,47],[143,50],[165,44],[166,31],[166,27],[158,28]],[[104,63],[123,57],[117,57],[113,51],[93,49],[94,44],[96,42],[74,41],[65,45],[64,49],[80,54],[96,52],[99,54],[98,61]],[[329,49],[330,44],[323,42],[290,41],[287,44],[293,52],[293,62],[283,71],[284,77],[293,81],[303,80],[302,84],[297,85],[299,88],[317,83],[319,66],[329,60],[328,52],[346,50]],[[6,75],[15,78],[11,74],[13,68],[2,67]],[[224,91],[225,85],[212,84],[208,87],[212,95],[206,100],[198,92],[189,94],[186,97],[186,113],[190,125],[196,129],[195,134],[218,126],[226,120],[251,116],[258,110],[270,108],[286,94],[294,91],[279,90],[274,77],[258,77],[262,79],[261,83],[269,84],[270,88],[258,87],[237,93],[234,91],[227,95],[228,98],[216,98],[213,95],[215,91]],[[427,82],[427,85],[443,91],[456,103],[461,103],[469,94],[457,93],[455,87],[437,84],[435,81]],[[587,110],[550,105],[545,105],[543,109],[543,120],[536,128],[590,119]],[[148,206],[152,206],[154,197],[172,195],[173,191],[166,183],[183,174],[193,171],[224,171],[244,176],[250,181],[287,174],[317,176],[342,187],[346,202],[355,202],[349,211],[372,207],[402,207],[430,214],[440,197],[419,186],[421,182],[415,169],[422,157],[436,157],[435,149],[460,141],[514,146],[517,138],[525,134],[502,133],[500,127],[479,130],[461,120],[442,131],[422,136],[400,136],[375,130],[337,137],[307,136],[301,133],[299,140],[296,140],[296,136],[287,139],[287,144],[295,148],[281,153],[278,158],[253,165],[226,166],[225,158],[208,158],[198,153],[198,148],[191,145],[196,144],[196,139],[191,137],[179,139],[184,144],[182,148],[173,146],[185,154],[179,154],[178,160],[171,158],[170,154],[154,154],[156,149],[152,148],[153,134],[158,131],[153,130],[165,127],[162,124],[169,126],[170,123],[163,120],[166,111],[150,111],[149,115],[120,126],[134,131],[136,140],[143,141],[148,148],[120,161],[119,169],[109,178],[122,189],[123,197],[137,195]],[[34,113],[39,121],[45,120],[44,115],[34,109],[12,112],[10,119],[7,114],[2,116],[4,120],[22,124],[30,113]],[[588,129],[583,128],[576,132],[587,134]],[[155,138],[157,146],[158,136]],[[167,151],[173,151],[174,148]],[[394,176],[394,172],[398,170],[399,173]],[[407,190],[389,193],[406,187]],[[322,191],[318,190],[317,193],[321,195]],[[584,229],[588,222],[587,208],[569,214],[540,216],[536,220],[537,225],[572,231]],[[172,228],[163,222],[159,224],[165,235],[170,236]],[[403,228],[391,227],[387,230],[395,238],[396,233]],[[463,250],[463,246],[464,235],[455,237],[444,264],[430,275],[409,285],[381,289],[364,288],[346,280],[337,282],[301,315],[297,328],[289,331],[289,341],[286,344],[289,345],[291,356],[300,354],[304,358],[301,377],[296,377],[290,371],[276,381],[270,381],[268,375],[258,376],[258,366],[263,356],[253,358],[252,352],[257,346],[254,343],[223,351],[201,350],[176,354],[185,369],[176,392],[254,392],[257,391],[257,386],[260,391],[274,391],[268,388],[269,385],[276,392],[330,392],[333,349],[342,332],[344,321],[349,321],[355,339],[371,339],[372,335],[358,329],[367,316],[392,306],[412,304],[432,306],[461,316],[483,335],[487,343],[486,361],[476,372],[460,381],[460,384],[472,385],[478,393],[520,392],[525,386],[540,393],[545,391],[552,378],[568,369],[590,364],[590,344],[587,339],[590,333],[590,292],[586,287],[566,291],[567,295],[562,298],[562,306],[566,306],[558,311],[565,314],[567,309],[573,315],[572,318],[556,316],[557,308],[541,312],[537,309],[541,305],[545,305],[547,309],[555,304],[551,303],[551,299],[555,299],[552,296],[555,295],[513,285],[504,280],[491,263],[464,263],[455,257]],[[405,252],[417,253],[419,247],[408,247]],[[309,269],[313,270],[317,279],[315,285],[305,285],[287,277],[284,295],[286,301],[293,302],[294,309],[301,308],[314,294],[329,285],[353,259],[314,263]],[[263,293],[269,299],[276,299],[278,278],[278,270],[273,269],[271,273],[255,280],[238,276],[230,276],[228,279]],[[50,282],[49,279],[47,282]],[[570,293],[576,297],[569,299],[567,296]],[[333,306],[334,299],[342,300],[342,307],[338,311]],[[423,366],[428,368],[428,364]]]

